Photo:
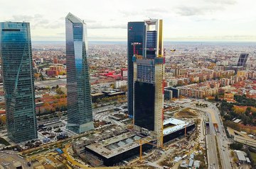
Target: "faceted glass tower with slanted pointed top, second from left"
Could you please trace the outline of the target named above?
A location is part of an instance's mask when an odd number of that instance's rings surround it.
[[[68,125],[75,133],[94,129],[87,63],[87,28],[84,21],[68,13],[65,18]]]

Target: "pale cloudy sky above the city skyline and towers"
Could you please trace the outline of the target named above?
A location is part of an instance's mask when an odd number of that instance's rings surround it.
[[[126,41],[127,23],[163,19],[166,41],[256,42],[255,0],[0,0],[0,21],[31,23],[33,41],[65,41],[65,16],[90,41]]]

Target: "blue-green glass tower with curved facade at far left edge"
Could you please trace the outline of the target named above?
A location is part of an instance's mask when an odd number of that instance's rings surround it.
[[[8,136],[18,143],[37,138],[29,23],[0,23],[0,57]]]

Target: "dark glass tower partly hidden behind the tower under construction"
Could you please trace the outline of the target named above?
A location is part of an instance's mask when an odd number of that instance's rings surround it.
[[[128,41],[127,41],[127,60],[128,60],[128,113],[129,117],[133,117],[134,111],[134,66],[132,57],[134,56],[134,42],[141,45],[135,45],[135,52],[139,55],[144,55],[144,44],[145,40],[145,24],[144,22],[129,22],[128,23]]]

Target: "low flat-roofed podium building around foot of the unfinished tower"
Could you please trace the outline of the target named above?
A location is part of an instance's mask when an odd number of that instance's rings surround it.
[[[191,134],[195,129],[193,122],[185,122],[174,118],[164,120],[163,124],[164,144],[178,137]],[[82,141],[75,142],[73,144],[74,151],[78,153],[83,161],[94,167],[99,167],[126,164],[138,155],[142,158],[142,153],[152,148],[160,148],[156,144],[157,139],[134,130],[122,130],[122,132],[116,132],[116,135],[112,134],[108,137],[103,135],[98,136],[98,140],[95,141],[85,138]]]

